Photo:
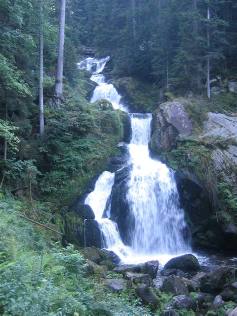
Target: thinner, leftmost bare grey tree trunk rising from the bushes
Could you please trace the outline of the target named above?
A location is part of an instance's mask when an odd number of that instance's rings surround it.
[[[44,132],[43,119],[43,3],[40,2],[40,30],[39,30],[39,132],[42,135]]]

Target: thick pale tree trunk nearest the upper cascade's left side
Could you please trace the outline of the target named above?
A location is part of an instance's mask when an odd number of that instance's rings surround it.
[[[57,70],[56,70],[56,81],[55,81],[55,85],[54,85],[54,96],[57,97],[60,100],[63,100],[63,95],[62,95],[62,71],[63,71],[63,46],[64,46],[65,10],[66,10],[66,0],[61,0],[61,6],[60,6],[60,27],[59,27],[59,37],[58,37],[58,50],[57,50]]]

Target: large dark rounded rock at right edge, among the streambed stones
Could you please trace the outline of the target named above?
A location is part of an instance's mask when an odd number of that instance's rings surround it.
[[[230,266],[219,266],[210,274],[210,283],[222,289],[231,279],[237,277],[237,269]]]

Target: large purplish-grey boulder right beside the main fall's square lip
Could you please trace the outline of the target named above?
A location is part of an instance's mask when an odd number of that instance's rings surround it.
[[[153,114],[151,149],[160,154],[175,146],[178,135],[190,136],[192,123],[182,102],[171,101],[160,104]]]

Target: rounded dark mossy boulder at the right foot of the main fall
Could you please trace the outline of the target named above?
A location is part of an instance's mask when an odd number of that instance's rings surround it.
[[[199,267],[197,258],[192,254],[177,256],[164,265],[166,269],[180,269],[182,271],[197,271]]]

